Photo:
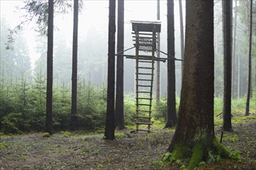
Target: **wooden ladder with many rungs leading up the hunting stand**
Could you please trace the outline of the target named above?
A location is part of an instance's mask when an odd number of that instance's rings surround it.
[[[136,131],[150,132],[156,32],[133,32],[136,47]],[[141,55],[150,53],[151,55]]]

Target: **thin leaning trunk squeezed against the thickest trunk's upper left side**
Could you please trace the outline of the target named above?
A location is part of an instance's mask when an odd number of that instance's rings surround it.
[[[182,12],[182,0],[178,1],[179,7],[179,22],[181,30],[181,56],[184,59],[184,29],[183,29],[183,12]],[[182,62],[182,76],[183,76],[183,62]]]

